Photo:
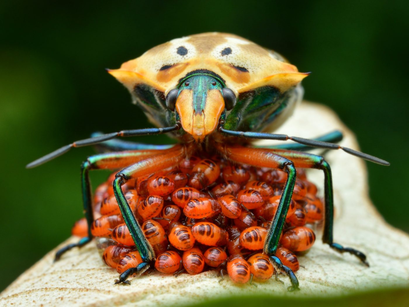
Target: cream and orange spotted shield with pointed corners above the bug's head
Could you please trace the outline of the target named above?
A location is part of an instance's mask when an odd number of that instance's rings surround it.
[[[139,83],[165,95],[190,72],[208,69],[223,78],[237,95],[272,85],[282,92],[308,74],[298,72],[278,53],[228,33],[202,33],[175,38],[109,70],[132,92]]]

